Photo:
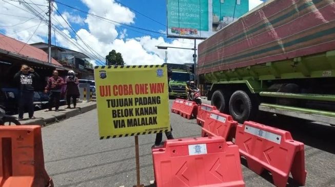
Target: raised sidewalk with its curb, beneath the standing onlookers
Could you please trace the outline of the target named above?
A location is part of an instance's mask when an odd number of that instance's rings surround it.
[[[52,111],[46,112],[46,109],[38,110],[34,112],[35,120],[30,120],[28,118],[28,113],[24,114],[24,120],[20,121],[22,125],[41,125],[46,126],[47,124],[58,122],[67,118],[71,118],[75,115],[79,115],[81,113],[88,112],[96,108],[96,102],[89,103],[77,103],[77,108],[73,109],[65,109],[67,105],[61,106],[60,111]],[[14,115],[18,118],[18,115]]]

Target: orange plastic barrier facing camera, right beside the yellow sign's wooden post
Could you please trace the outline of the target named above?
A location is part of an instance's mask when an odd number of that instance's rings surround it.
[[[152,158],[157,187],[245,186],[238,146],[223,137],[167,140]]]

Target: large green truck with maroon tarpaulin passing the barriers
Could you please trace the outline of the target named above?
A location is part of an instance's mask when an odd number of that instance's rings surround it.
[[[335,124],[335,2],[269,0],[199,44],[208,100],[243,123],[276,114]]]

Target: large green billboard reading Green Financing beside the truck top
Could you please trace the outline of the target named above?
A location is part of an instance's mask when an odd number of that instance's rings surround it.
[[[208,38],[248,9],[248,0],[167,0],[167,35]]]

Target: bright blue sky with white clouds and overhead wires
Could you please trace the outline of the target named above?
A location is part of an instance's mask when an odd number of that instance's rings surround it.
[[[42,10],[47,8],[45,7],[47,5],[47,1],[45,0],[20,1],[44,5],[44,7],[31,5],[37,12],[42,12]],[[95,64],[104,63],[108,52],[116,50],[122,53],[125,62],[129,65],[163,63],[166,51],[158,50],[155,45],[193,48],[194,40],[166,38],[166,26],[164,26],[166,25],[166,0],[119,1],[126,7],[114,0],[55,0],[55,6],[58,11],[69,22],[75,33],[72,32],[63,18],[54,10],[52,21],[60,29],[56,29],[55,32],[52,31],[52,44],[55,44],[56,41],[57,45],[83,52],[90,56],[91,61]],[[122,22],[123,24],[145,28],[158,33],[134,28],[124,29],[123,27],[115,26],[105,20],[74,10],[57,2],[110,20]],[[260,3],[262,3],[261,0],[249,0],[249,9]],[[161,24],[150,20],[139,12]],[[0,15],[1,33],[5,33],[25,43],[47,42],[47,24],[43,21],[41,22],[40,18],[32,14],[27,9],[27,4],[20,4],[17,0],[3,0],[0,3],[0,14],[2,14]],[[44,19],[47,18],[45,13],[42,12],[41,15],[44,16]],[[199,42],[201,40],[197,40],[197,43]],[[191,50],[168,49],[168,63],[192,63],[192,53]]]

